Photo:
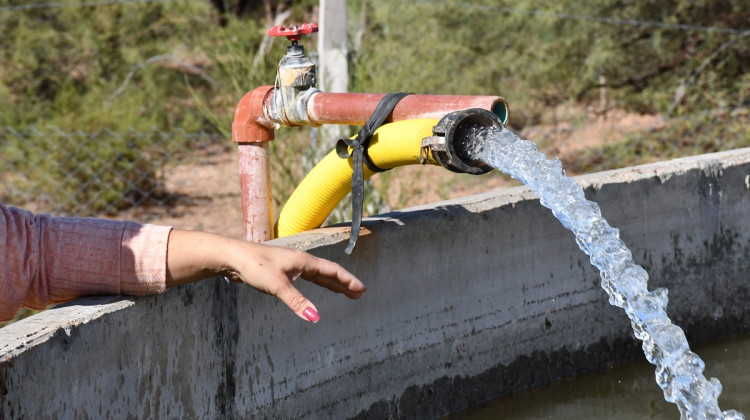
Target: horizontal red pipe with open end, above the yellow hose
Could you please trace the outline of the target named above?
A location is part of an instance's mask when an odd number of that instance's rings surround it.
[[[307,112],[310,122],[314,125],[363,125],[383,96],[385,95],[375,93],[319,92],[310,97]],[[386,121],[442,118],[450,112],[470,108],[483,108],[495,112],[498,107],[502,107],[501,111],[507,116],[507,103],[500,96],[409,95],[396,105],[391,117]],[[505,120],[506,116],[500,117]]]

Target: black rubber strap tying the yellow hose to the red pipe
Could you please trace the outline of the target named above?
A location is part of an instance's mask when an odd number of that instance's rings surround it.
[[[354,245],[359,238],[359,227],[362,225],[362,208],[365,198],[365,174],[362,165],[373,172],[383,172],[367,156],[367,147],[370,145],[370,139],[383,123],[388,115],[396,108],[396,104],[409,93],[393,92],[386,94],[378,102],[370,118],[357,133],[354,139],[339,139],[336,143],[336,152],[339,157],[348,159],[352,158],[352,230],[349,233],[349,243],[346,246],[346,253],[351,255]],[[347,153],[348,148],[352,148],[352,153]]]

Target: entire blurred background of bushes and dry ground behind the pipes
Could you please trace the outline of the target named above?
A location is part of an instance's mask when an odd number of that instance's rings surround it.
[[[750,145],[745,0],[350,0],[352,92],[501,95],[509,128],[569,174]],[[277,24],[318,1],[0,0],[0,200],[35,212],[242,236],[234,107],[273,84]],[[301,43],[315,60],[318,35]],[[350,133],[356,127],[346,128]],[[271,144],[278,212],[335,138]],[[367,214],[516,185],[398,168]],[[329,222],[349,220],[343,203]]]

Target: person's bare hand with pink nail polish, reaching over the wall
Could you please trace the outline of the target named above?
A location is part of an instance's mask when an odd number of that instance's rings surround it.
[[[278,297],[300,318],[318,322],[315,305],[294,287],[298,278],[358,299],[365,286],[339,264],[304,251],[253,244],[205,232],[173,230],[167,255],[167,287],[215,275],[241,281]]]

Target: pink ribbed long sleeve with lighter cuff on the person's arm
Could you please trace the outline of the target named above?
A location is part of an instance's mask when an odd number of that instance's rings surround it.
[[[164,291],[170,230],[0,203],[0,321],[78,296]]]

